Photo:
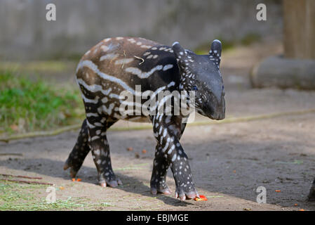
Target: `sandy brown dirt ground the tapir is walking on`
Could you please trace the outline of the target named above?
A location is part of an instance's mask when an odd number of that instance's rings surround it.
[[[267,50],[264,46],[238,49],[222,59],[227,117],[315,108],[315,91],[250,88],[250,66],[267,53],[281,52],[279,44],[274,46]],[[242,64],[244,61],[247,63]],[[81,182],[71,181],[69,171],[62,169],[77,131],[0,143],[0,153],[22,153],[0,156],[0,174],[41,176],[42,181],[55,184],[58,200],[71,197],[82,203],[58,210],[315,210],[315,203],[306,201],[315,177],[314,129],[314,113],[187,127],[181,143],[189,156],[196,188],[208,197],[206,202],[180,202],[173,194],[150,194],[155,148],[150,129],[108,131],[113,169],[123,182],[118,188],[97,185],[91,153],[78,173]],[[126,150],[128,147],[133,150]],[[142,149],[147,153],[142,153]],[[135,157],[135,153],[140,157]],[[170,171],[167,183],[174,192]],[[266,204],[256,203],[259,186],[267,189]],[[32,190],[32,195],[45,199],[46,186]],[[1,204],[4,201],[0,199]]]

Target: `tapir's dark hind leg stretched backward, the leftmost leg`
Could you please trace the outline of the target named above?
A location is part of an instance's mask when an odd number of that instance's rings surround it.
[[[81,168],[83,161],[90,150],[91,148],[88,145],[88,125],[86,120],[84,120],[76,144],[63,167],[63,169],[68,169],[70,167],[70,176],[72,178],[76,177],[77,172]]]

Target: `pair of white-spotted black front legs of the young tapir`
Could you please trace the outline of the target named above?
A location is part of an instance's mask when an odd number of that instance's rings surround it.
[[[183,130],[180,127],[181,118],[176,116],[155,116],[152,117],[152,123],[154,136],[156,137],[158,146],[161,146],[161,148],[156,148],[151,190],[154,190],[157,186],[163,192],[163,189],[167,188],[165,184],[167,167],[165,167],[165,161],[163,160],[165,158],[175,179],[175,198],[180,197],[180,200],[195,198],[198,196],[198,193],[194,187],[187,155],[179,142]]]

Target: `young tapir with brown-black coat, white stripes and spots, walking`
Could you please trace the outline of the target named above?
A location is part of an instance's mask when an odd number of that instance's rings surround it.
[[[213,120],[222,120],[225,101],[219,70],[221,49],[221,42],[215,40],[207,55],[196,55],[178,42],[170,47],[135,37],[107,38],[93,46],[76,68],[86,120],[64,169],[70,167],[70,175],[75,177],[91,150],[100,185],[122,184],[112,170],[107,129],[118,120],[150,121],[157,142],[150,181],[152,194],[170,193],[166,185],[170,167],[176,185],[175,198],[199,196],[187,155],[180,145],[187,115],[121,115],[120,94],[129,91],[136,96],[137,85],[141,91],[152,91],[152,95],[161,91],[194,91],[196,111]]]

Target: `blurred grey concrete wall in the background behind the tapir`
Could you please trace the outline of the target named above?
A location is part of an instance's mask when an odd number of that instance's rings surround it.
[[[57,20],[46,21],[54,3]],[[267,4],[267,21],[256,5]],[[187,48],[221,37],[282,33],[281,4],[272,0],[0,0],[0,59],[80,56],[105,37],[137,36]]]

